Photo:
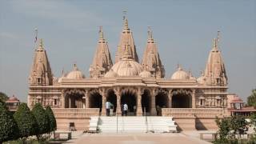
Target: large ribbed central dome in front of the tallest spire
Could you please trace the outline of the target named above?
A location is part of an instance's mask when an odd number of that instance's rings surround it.
[[[117,62],[111,68],[118,76],[135,76],[142,72],[142,66],[132,59]]]

